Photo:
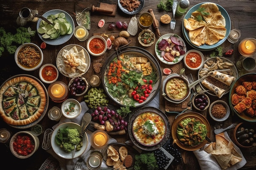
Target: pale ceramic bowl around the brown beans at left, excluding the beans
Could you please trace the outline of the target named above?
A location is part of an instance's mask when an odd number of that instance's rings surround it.
[[[36,50],[38,51],[38,53],[40,54],[40,60],[37,62],[36,65],[32,66],[32,67],[28,67],[28,66],[24,66],[22,65],[19,61],[18,61],[18,54],[20,53],[20,50],[22,50],[23,47],[25,46],[32,46],[34,48],[36,48]],[[25,71],[34,71],[36,69],[38,69],[42,63],[43,63],[43,51],[40,49],[40,47],[34,43],[24,43],[22,45],[20,45],[16,51],[15,51],[15,55],[14,55],[14,59],[15,59],[15,62],[17,64],[17,66],[19,68],[21,68],[22,70],[25,70]]]

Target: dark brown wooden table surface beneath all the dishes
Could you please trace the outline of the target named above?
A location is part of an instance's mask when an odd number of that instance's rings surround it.
[[[32,1],[32,0],[0,0],[0,27],[4,27],[7,31],[9,32],[14,32],[16,30],[16,28],[18,28],[18,25],[16,24],[16,18],[19,15],[19,11],[22,7],[28,7],[30,9],[34,9],[34,10],[38,10],[38,13],[40,15],[43,15],[43,13],[45,13],[46,11],[52,10],[52,9],[62,9],[64,11],[66,11],[67,13],[69,13],[75,23],[75,26],[77,26],[76,24],[76,20],[75,20],[75,16],[74,13],[76,11],[76,0],[36,0],[36,1]],[[108,4],[117,4],[117,0],[88,0],[88,1],[78,1],[78,2],[83,2],[85,3],[88,7],[90,5],[95,5],[96,7],[99,6],[100,2],[105,2]],[[190,1],[190,6],[189,9],[191,7],[193,7],[195,4],[204,2],[203,0],[191,0]],[[255,16],[256,16],[256,3],[254,0],[230,0],[230,1],[219,1],[219,0],[212,0],[211,2],[215,2],[217,4],[219,4],[220,6],[222,6],[227,13],[229,14],[230,20],[231,20],[231,29],[240,29],[241,31],[241,38],[239,39],[238,42],[236,42],[235,44],[231,44],[228,40],[226,40],[221,46],[223,47],[223,51],[226,51],[228,49],[234,49],[234,55],[232,55],[232,57],[228,57],[229,60],[231,60],[234,64],[236,64],[236,61],[241,57],[240,54],[238,53],[238,44],[241,40],[243,40],[244,38],[256,38],[256,20],[255,20]],[[160,19],[160,16],[163,14],[169,14],[172,17],[172,13],[171,12],[166,12],[166,11],[159,11],[157,9],[157,4],[159,3],[159,0],[145,0],[145,4],[144,4],[144,8],[141,10],[140,13],[143,12],[147,12],[148,9],[153,9],[153,12],[155,14],[155,18],[157,20]],[[137,19],[138,19],[139,13],[136,15]],[[118,34],[120,30],[115,29],[113,31],[109,31],[108,30],[108,24],[105,24],[105,26],[103,26],[103,28],[99,28],[97,26],[98,22],[100,19],[104,19],[105,22],[115,22],[115,21],[122,21],[122,22],[129,22],[131,19],[132,15],[127,15],[125,13],[123,13],[119,7],[117,6],[117,11],[116,11],[116,15],[115,17],[111,17],[111,16],[106,16],[106,15],[101,15],[99,13],[92,13],[91,12],[91,29],[89,30],[89,37],[91,37],[92,35],[99,35],[99,34],[103,34],[106,33],[108,35],[112,35],[112,34]],[[171,30],[170,29],[170,24],[159,24],[159,31],[161,33],[161,35],[164,35],[166,33],[175,33],[177,35],[180,35],[182,38],[184,38],[183,34],[182,34],[182,21],[183,21],[184,15],[181,17],[176,17],[176,26],[175,26],[175,30]],[[32,30],[36,29],[36,23],[33,22],[29,22],[25,25],[25,27],[30,26],[32,28]],[[150,26],[150,29],[154,31],[153,26]],[[138,35],[138,34],[137,34]],[[130,46],[140,46],[138,41],[137,41],[137,35],[135,36],[131,36],[129,39],[131,39],[131,44]],[[157,36],[157,39],[159,38],[159,36]],[[32,42],[34,42],[35,44],[40,45],[42,40],[38,37],[38,35],[36,34],[32,39]],[[60,49],[62,49],[64,46],[68,45],[68,44],[79,44],[81,46],[86,47],[86,42],[80,42],[79,40],[77,40],[74,35],[72,36],[72,38],[67,41],[64,44],[58,45],[58,46],[52,46],[52,45],[47,45],[46,49],[43,49],[43,53],[44,53],[44,61],[43,64],[46,63],[52,63],[52,64],[56,64],[56,55],[58,54],[58,51],[60,51]],[[186,43],[187,49],[193,49],[189,44]],[[142,46],[140,46],[142,47]],[[144,49],[146,49],[147,51],[149,51],[150,53],[152,53],[153,55],[155,55],[155,44],[153,44],[150,47],[142,47]],[[94,71],[92,68],[92,63],[94,60],[98,60],[98,59],[103,59],[103,62],[107,60],[108,56],[115,52],[113,49],[110,51],[107,51],[103,56],[100,57],[92,57],[91,56],[91,66],[88,70],[87,73],[85,73],[83,75],[83,77],[85,77],[86,79],[89,79],[89,77],[91,75],[94,75]],[[209,54],[212,53],[213,51],[202,51],[202,53],[204,54],[205,58],[209,57]],[[256,58],[255,55],[252,56],[254,59]],[[1,62],[0,62],[0,84],[2,84],[6,79],[8,79],[9,77],[12,77],[14,75],[17,74],[29,74],[29,75],[33,75],[37,78],[39,78],[38,76],[38,70],[33,71],[33,72],[26,72],[26,71],[22,71],[20,68],[18,68],[18,66],[16,66],[15,61],[14,61],[14,54],[13,55],[9,55],[9,53],[4,52],[2,57],[0,57]],[[157,59],[158,60],[158,59]],[[176,70],[174,70],[174,72],[179,73],[179,69],[184,67],[183,64],[181,63],[179,66],[171,66],[171,65],[167,65],[164,64],[162,62],[159,62],[160,66],[161,66],[161,70],[163,68],[174,68]],[[177,69],[178,68],[178,69]],[[256,72],[256,69],[254,69],[251,72]],[[197,77],[197,71],[189,71],[188,69],[186,69],[185,71],[185,75],[192,73],[194,79],[196,79]],[[100,74],[97,74],[99,77],[101,76]],[[163,77],[164,78],[164,77]],[[70,81],[70,78],[63,76],[62,74],[59,74],[58,77],[59,81],[63,81],[66,84],[68,84],[68,82]],[[47,88],[49,86],[49,84],[45,84],[45,87]],[[79,100],[80,102],[83,101],[83,97],[76,97],[77,100]],[[214,96],[210,96],[211,101],[217,100],[217,97]],[[224,100],[226,102],[228,102],[228,94],[224,95],[221,100]],[[177,110],[180,110],[180,105],[175,105],[172,103],[167,103],[165,99],[160,95],[159,98],[159,104],[160,104],[160,109],[165,112],[166,106],[170,106],[173,107]],[[52,101],[49,102],[49,108],[52,108],[52,106],[61,106],[60,103],[54,103]],[[196,110],[193,110],[196,111]],[[198,112],[198,111],[197,111]],[[209,115],[207,114],[207,111],[203,111],[200,112],[202,115],[204,115],[205,117],[207,117],[207,119],[209,120],[210,124],[211,124],[211,140],[215,141],[215,135],[214,135],[214,128],[213,126],[216,126],[216,122],[214,122]],[[168,119],[170,121],[170,123],[172,124],[173,120],[175,119],[175,114],[170,114],[170,113],[166,113],[166,115],[168,116]],[[242,122],[241,119],[239,119],[238,117],[236,117],[235,115],[233,115],[231,113],[231,116],[229,117],[229,119],[227,119],[226,121],[222,122],[220,125],[222,127],[227,127],[229,126],[232,122],[234,121],[240,121]],[[56,121],[51,121],[47,116],[45,116],[43,118],[42,121],[39,122],[39,124],[43,125],[44,129],[47,128],[51,128],[54,124],[56,124]],[[256,124],[254,123],[254,126]],[[20,131],[20,129],[16,129],[16,128],[12,128],[10,126],[7,126],[1,119],[0,121],[0,128],[8,128],[9,130],[11,130],[11,132],[14,134],[18,131]],[[25,129],[27,130],[27,129]],[[233,130],[227,130],[229,136],[232,139],[232,132]],[[171,136],[170,136],[171,137]],[[122,135],[122,136],[118,136],[115,137],[117,139],[117,141],[119,142],[125,142],[126,140],[128,140],[128,136],[127,135]],[[0,148],[1,148],[1,154],[2,154],[2,158],[1,159],[1,163],[6,163],[7,161],[11,163],[8,163],[8,167],[9,169],[24,169],[24,170],[35,170],[40,168],[41,164],[45,161],[45,159],[47,159],[47,157],[49,157],[49,153],[47,153],[45,150],[43,150],[41,148],[41,144],[42,144],[42,139],[43,139],[43,135],[39,136],[40,139],[40,147],[38,149],[38,151],[35,153],[35,155],[29,159],[25,159],[25,160],[20,160],[20,159],[16,159],[10,152],[8,146],[4,145],[4,144],[0,144]],[[256,167],[256,148],[250,148],[250,149],[243,149],[241,148],[241,151],[243,152],[243,155],[245,156],[245,159],[247,160],[246,165],[241,168],[243,170],[245,169],[255,169]],[[182,157],[183,157],[183,163],[180,163],[180,165],[178,166],[170,166],[168,169],[169,170],[178,170],[178,169],[182,169],[182,170],[198,170],[200,169],[199,164],[197,159],[195,158],[193,152],[186,152],[184,150],[181,151],[182,152]]]

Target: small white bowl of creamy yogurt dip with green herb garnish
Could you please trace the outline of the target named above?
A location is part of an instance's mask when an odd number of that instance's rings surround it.
[[[81,104],[76,99],[67,99],[61,105],[63,116],[73,119],[81,113]]]

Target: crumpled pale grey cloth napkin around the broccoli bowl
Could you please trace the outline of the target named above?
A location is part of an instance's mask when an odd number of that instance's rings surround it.
[[[63,116],[63,117],[61,117],[61,120],[59,121],[59,123],[54,125],[52,128],[55,129],[58,125],[63,124],[65,122],[74,122],[74,123],[77,123],[77,124],[81,124],[81,120],[83,118],[83,115],[87,110],[89,110],[89,108],[88,108],[88,106],[85,102],[81,102],[80,104],[81,104],[82,110],[81,110],[81,114],[78,117],[76,117],[74,119],[68,119],[68,118]],[[86,130],[86,134],[88,136],[88,141],[90,141],[90,136],[92,135],[92,132],[90,130]],[[108,143],[111,144],[111,143],[114,143],[114,142],[117,142],[117,140],[112,138],[112,137],[109,137]],[[85,159],[83,160],[83,165],[82,165],[81,169],[87,169],[86,160],[89,157],[90,152],[92,150],[94,150],[94,148],[92,148],[90,142],[88,142],[88,146],[87,146],[85,152],[83,152],[83,154],[82,154],[82,155],[84,155],[85,153],[88,152],[88,155],[86,155]],[[80,157],[77,157],[77,158],[74,158],[74,159],[66,159],[66,167],[61,166],[61,170],[74,170],[74,166],[76,164],[76,161],[78,161],[79,158]],[[106,163],[104,161],[102,161],[101,168],[108,168],[108,166],[106,165]]]

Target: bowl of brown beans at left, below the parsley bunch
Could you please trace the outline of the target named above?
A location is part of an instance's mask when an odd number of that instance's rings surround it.
[[[25,71],[35,71],[43,63],[43,51],[34,43],[24,43],[15,51],[15,62]]]

